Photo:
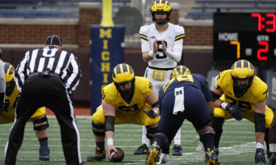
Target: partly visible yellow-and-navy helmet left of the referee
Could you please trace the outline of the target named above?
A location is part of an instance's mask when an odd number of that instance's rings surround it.
[[[10,63],[4,63],[4,71],[6,78],[6,95],[10,96],[15,87],[14,82],[14,67]]]

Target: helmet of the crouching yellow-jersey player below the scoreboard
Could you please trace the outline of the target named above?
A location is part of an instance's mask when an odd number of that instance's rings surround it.
[[[231,67],[231,76],[233,79],[234,94],[237,98],[240,98],[246,94],[246,91],[253,83],[254,78],[254,66],[246,60],[236,61]],[[246,80],[248,78],[248,84],[238,85],[237,80]]]

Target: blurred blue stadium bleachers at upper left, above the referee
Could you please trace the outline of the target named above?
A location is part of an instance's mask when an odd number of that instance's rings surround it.
[[[0,0],[0,17],[23,18],[65,18],[79,17],[80,2],[101,2],[102,0]],[[113,0],[113,8],[122,8],[130,0]]]

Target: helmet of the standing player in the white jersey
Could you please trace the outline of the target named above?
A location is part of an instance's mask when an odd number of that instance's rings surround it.
[[[166,12],[167,17],[165,20],[157,20],[155,17],[155,13],[157,12]],[[157,25],[164,25],[170,21],[170,14],[172,12],[172,6],[166,0],[155,0],[150,8],[150,14],[152,17],[152,21],[157,23]]]

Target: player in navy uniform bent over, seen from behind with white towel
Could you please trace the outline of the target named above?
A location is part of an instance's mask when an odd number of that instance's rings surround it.
[[[200,74],[190,74],[189,69],[183,65],[177,66],[171,77],[159,93],[161,118],[158,122],[158,133],[153,137],[153,144],[146,157],[146,164],[156,164],[160,148],[170,144],[185,119],[192,122],[197,129],[204,144],[208,164],[219,164],[214,153],[215,132],[210,123],[214,103],[206,78]],[[168,155],[166,159],[161,158],[159,163],[168,162]]]

